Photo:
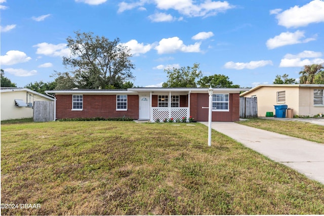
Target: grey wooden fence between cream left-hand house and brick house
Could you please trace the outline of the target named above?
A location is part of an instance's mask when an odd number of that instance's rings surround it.
[[[34,101],[34,121],[54,121],[54,101]]]

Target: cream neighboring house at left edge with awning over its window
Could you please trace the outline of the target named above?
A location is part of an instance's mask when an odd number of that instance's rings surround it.
[[[1,88],[1,120],[32,118],[34,101],[53,98],[24,88]]]

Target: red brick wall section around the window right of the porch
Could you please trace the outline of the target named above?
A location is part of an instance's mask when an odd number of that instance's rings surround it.
[[[190,95],[190,99],[191,96]],[[195,118],[197,121],[208,121],[208,109],[203,109],[201,107],[208,107],[208,94],[197,94],[197,108],[196,113],[197,117]],[[191,109],[190,102],[190,111]],[[193,116],[193,113],[190,113]],[[213,111],[212,112],[212,121],[238,121],[239,120],[239,94],[229,94],[229,111]]]

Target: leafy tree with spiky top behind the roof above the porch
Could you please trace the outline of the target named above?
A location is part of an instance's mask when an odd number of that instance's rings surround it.
[[[201,78],[202,72],[199,69],[199,64],[194,63],[192,67],[168,68],[165,72],[168,73],[167,82],[163,83],[163,87],[197,87],[196,80]]]

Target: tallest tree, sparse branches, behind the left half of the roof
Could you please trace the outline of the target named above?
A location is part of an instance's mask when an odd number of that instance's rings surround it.
[[[71,67],[71,74],[60,73],[60,79],[71,78],[80,89],[114,89],[135,78],[131,71],[135,66],[130,60],[130,49],[121,45],[119,38],[110,41],[92,32],[74,33],[75,38],[67,38],[71,56],[63,57],[63,65]]]

